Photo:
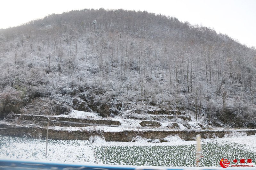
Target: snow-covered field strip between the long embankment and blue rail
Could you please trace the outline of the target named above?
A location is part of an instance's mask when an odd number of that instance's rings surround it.
[[[179,137],[167,137],[169,142],[166,143],[153,143],[157,141],[152,141],[148,143],[145,139],[141,138],[137,140],[139,142],[105,142],[104,139],[99,137],[94,137],[89,141],[85,140],[48,140],[48,155],[45,156],[45,140],[43,139],[30,139],[23,137],[5,137],[0,136],[0,159],[30,159],[30,160],[46,160],[46,161],[68,161],[68,162],[83,162],[83,163],[107,163],[107,164],[126,164],[124,160],[130,159],[131,156],[139,156],[140,161],[136,162],[136,159],[131,165],[156,165],[156,166],[191,166],[191,161],[193,164],[194,154],[193,151],[196,144],[195,141],[183,141]],[[256,159],[256,135],[254,136],[241,136],[240,134],[234,133],[231,137],[215,138],[215,139],[204,139],[202,140],[203,148],[211,148],[211,151],[203,151],[205,153],[204,166],[216,166],[216,162],[219,161],[219,157],[233,156],[237,159],[245,157],[252,157],[254,163]],[[241,145],[243,144],[243,145]],[[219,151],[219,146],[223,148]],[[139,148],[138,148],[139,147]],[[239,147],[239,148],[237,148]],[[116,149],[115,149],[116,148]],[[122,150],[122,148],[124,150]],[[156,150],[155,150],[155,149]],[[226,148],[226,150],[225,150]],[[217,151],[217,150],[218,151]],[[184,164],[184,161],[172,164],[170,160],[166,160],[168,163],[165,164],[164,161],[153,159],[153,157],[163,157],[163,159],[168,159],[166,157],[166,151],[170,157],[180,155],[177,159],[189,159],[188,164]],[[188,152],[189,150],[189,152]],[[191,150],[191,151],[190,151]],[[216,151],[215,151],[216,150]],[[111,152],[110,152],[111,151]],[[120,152],[118,152],[120,151]],[[157,152],[156,152],[157,151]],[[113,158],[113,153],[116,157]],[[140,154],[140,152],[143,152]],[[143,160],[143,155],[152,156],[152,160]],[[151,153],[152,152],[152,153]],[[185,155],[182,155],[184,152]],[[188,152],[188,153],[187,153]],[[112,154],[110,154],[112,153]],[[121,155],[123,155],[121,157]],[[139,155],[138,155],[139,154]],[[189,155],[188,155],[189,154]],[[217,154],[217,156],[216,156]],[[229,155],[228,155],[229,154]],[[126,158],[127,156],[127,158]],[[121,159],[121,162],[120,162]],[[146,159],[146,158],[145,158]],[[147,158],[148,159],[148,158]],[[192,160],[190,160],[192,159]],[[216,159],[216,160],[215,160]],[[249,159],[249,158],[245,158]],[[213,164],[209,163],[213,161]],[[186,161],[185,161],[186,162]],[[189,163],[190,162],[190,163]],[[193,166],[193,165],[192,165]]]

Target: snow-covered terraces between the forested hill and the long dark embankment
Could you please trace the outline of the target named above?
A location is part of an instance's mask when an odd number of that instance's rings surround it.
[[[124,115],[125,114],[131,114],[128,111],[125,111],[124,112]],[[154,130],[168,130],[168,129],[188,129],[187,126],[185,126],[185,124],[188,124],[190,127],[189,129],[202,129],[202,127],[204,127],[205,129],[210,128],[211,130],[228,130],[228,128],[215,128],[215,127],[211,127],[211,126],[208,126],[207,124],[205,124],[204,122],[204,118],[201,117],[201,118],[198,118],[197,121],[195,119],[195,115],[193,114],[190,114],[190,117],[191,117],[191,120],[190,121],[186,121],[186,120],[182,120],[178,117],[175,117],[177,115],[174,115],[175,118],[173,119],[160,119],[160,120],[155,120],[157,119],[157,117],[159,115],[151,115],[151,114],[135,114],[137,116],[140,116],[140,117],[143,117],[145,118],[145,120],[147,121],[157,121],[157,122],[160,122],[161,123],[161,126],[159,128],[148,128],[148,127],[142,127],[140,125],[140,122],[142,120],[140,119],[131,119],[131,118],[124,118],[123,116],[115,116],[115,117],[108,117],[108,118],[103,118],[101,116],[98,115],[98,113],[95,113],[95,112],[84,112],[84,111],[78,111],[78,110],[71,110],[71,113],[69,113],[68,115],[55,115],[55,116],[52,116],[52,117],[70,117],[70,118],[78,118],[78,119],[94,119],[94,120],[112,120],[112,121],[119,121],[121,124],[120,126],[118,127],[106,127],[106,126],[97,126],[98,129],[101,129],[103,131],[122,131],[122,130],[131,130],[131,129],[143,129],[145,128],[146,130],[148,129],[154,129]],[[162,117],[167,117],[167,116],[170,116],[170,115],[161,115]],[[173,116],[173,115],[172,115]],[[179,115],[179,116],[184,116],[184,115]],[[138,117],[139,118],[139,117]],[[172,123],[177,123],[179,125],[179,127],[173,127],[172,126]],[[201,127],[201,126],[202,127]],[[65,128],[61,128],[61,127],[55,127],[53,129],[65,129]],[[83,127],[83,128],[80,128],[81,130],[83,129],[90,129],[92,127]],[[93,127],[95,128],[95,127]],[[71,128],[70,130],[78,130],[79,128]],[[239,130],[237,128],[230,128],[232,130]],[[242,128],[244,130],[246,130],[246,128]],[[250,129],[251,130],[251,129]],[[142,130],[141,130],[142,131]]]

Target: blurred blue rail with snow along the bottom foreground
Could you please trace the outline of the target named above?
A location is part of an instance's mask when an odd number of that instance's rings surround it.
[[[229,167],[228,167],[229,168]],[[163,166],[121,166],[82,163],[54,163],[0,159],[0,170],[221,170],[222,167],[163,167]],[[255,170],[255,167],[232,167],[233,170]]]

